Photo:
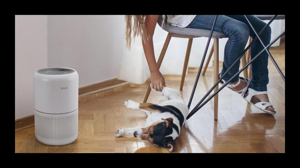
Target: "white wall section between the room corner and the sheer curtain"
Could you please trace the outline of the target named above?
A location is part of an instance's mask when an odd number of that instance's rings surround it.
[[[48,15],[48,67],[68,67],[79,86],[117,77],[124,15]]]

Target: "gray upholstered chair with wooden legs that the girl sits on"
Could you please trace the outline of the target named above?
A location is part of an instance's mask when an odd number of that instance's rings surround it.
[[[161,17],[160,17],[161,18]],[[162,27],[162,20],[158,20],[158,25]],[[191,47],[192,47],[192,41],[193,38],[197,37],[209,37],[210,30],[202,30],[202,29],[191,29],[191,28],[182,28],[182,27],[175,27],[168,25],[167,23],[163,26],[163,30],[166,30],[168,33],[167,38],[165,40],[165,43],[163,44],[163,49],[160,53],[160,56],[157,61],[158,68],[160,68],[160,65],[162,64],[163,57],[165,56],[165,53],[167,51],[169,42],[172,37],[177,37],[177,38],[188,38],[188,43],[187,43],[187,52],[185,55],[185,60],[184,60],[184,65],[183,65],[183,72],[182,72],[182,77],[181,77],[181,84],[180,84],[180,90],[183,88],[183,83],[184,83],[184,78],[185,74],[187,71],[187,64],[188,64],[188,59],[190,56],[191,52]],[[219,39],[221,38],[227,38],[226,35],[214,31],[212,33],[212,38],[214,40],[213,46],[214,46],[214,83],[217,82],[219,79],[218,74],[219,74]],[[200,56],[200,55],[199,55]],[[215,87],[214,91],[217,91],[218,86]],[[148,90],[146,92],[145,98],[144,98],[144,103],[147,102],[149,94],[150,94],[151,88],[148,86]],[[217,112],[218,112],[218,95],[214,96],[214,119],[217,119]]]

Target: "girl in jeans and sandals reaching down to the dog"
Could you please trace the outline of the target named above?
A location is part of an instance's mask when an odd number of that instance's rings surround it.
[[[254,15],[247,16],[257,32],[260,32],[266,25],[264,21],[258,19]],[[132,18],[134,21],[133,37],[140,35],[143,40],[143,49],[151,72],[151,87],[156,91],[162,91],[163,86],[166,87],[166,84],[155,61],[153,49],[153,34],[158,19],[163,21],[163,26],[170,24],[177,27],[211,30],[215,15],[125,15],[127,23],[126,41],[128,48],[130,48],[131,43]],[[252,38],[255,38],[256,35],[243,15],[219,15],[214,31],[228,36],[228,41],[224,50],[223,68],[219,75],[221,77],[245,49],[249,35]],[[260,37],[265,45],[270,43],[270,26],[264,30]],[[262,49],[262,44],[259,40],[256,40],[250,48],[251,58],[256,56]],[[239,63],[238,60],[238,63],[236,63],[224,76],[221,84],[227,82],[235,73],[237,73]],[[273,105],[270,104],[267,95],[267,84],[269,82],[267,66],[268,54],[264,51],[251,64],[251,80],[237,76],[230,81],[227,87],[242,94],[247,102],[258,109],[274,115],[276,111],[274,110]]]

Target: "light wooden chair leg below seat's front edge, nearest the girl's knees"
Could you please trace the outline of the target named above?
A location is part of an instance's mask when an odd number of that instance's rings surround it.
[[[219,80],[219,39],[213,38],[214,42],[214,54],[213,54],[213,82],[216,83]],[[219,86],[217,85],[214,88],[214,92],[218,90]],[[218,94],[214,96],[214,119],[218,119]]]

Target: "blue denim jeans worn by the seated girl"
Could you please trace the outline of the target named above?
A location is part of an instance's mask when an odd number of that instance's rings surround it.
[[[215,15],[197,15],[194,20],[187,26],[193,29],[211,30]],[[256,16],[248,15],[248,18],[254,26],[257,33],[267,24],[258,19]],[[251,26],[243,15],[219,15],[214,28],[214,31],[223,33],[229,37],[224,51],[224,62],[221,76],[233,64],[245,49],[249,35],[254,39],[256,37]],[[264,45],[270,43],[271,28],[268,26],[260,35]],[[251,59],[254,58],[263,49],[262,44],[257,39],[250,48]],[[228,81],[239,70],[240,60],[232,67],[232,69],[224,76],[224,80]],[[260,56],[252,62],[252,79],[250,88],[256,91],[267,91],[268,78],[268,54],[262,52]],[[238,76],[234,77],[230,82],[237,82]]]

